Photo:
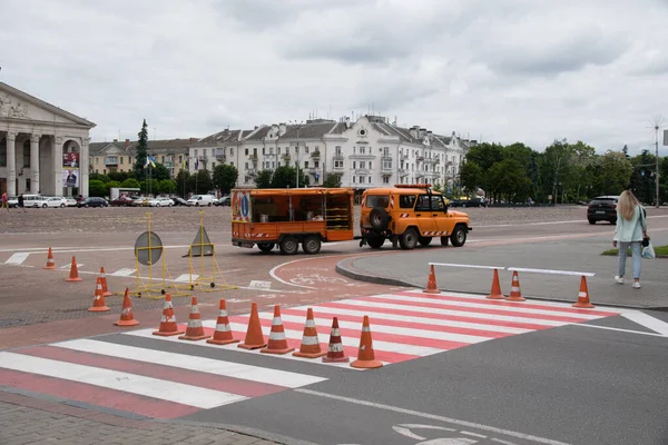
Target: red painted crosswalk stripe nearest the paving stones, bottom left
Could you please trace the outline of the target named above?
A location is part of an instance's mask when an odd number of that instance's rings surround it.
[[[20,370],[0,368],[0,382],[12,388],[32,390],[154,418],[176,418],[200,411],[195,406]]]

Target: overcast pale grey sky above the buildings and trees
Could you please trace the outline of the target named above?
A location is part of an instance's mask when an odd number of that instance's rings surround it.
[[[2,0],[0,80],[94,141],[375,113],[542,150],[654,151],[668,0]],[[668,154],[661,147],[662,154]]]

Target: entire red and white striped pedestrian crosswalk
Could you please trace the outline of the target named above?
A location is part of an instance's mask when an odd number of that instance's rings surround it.
[[[282,309],[291,347],[299,348],[307,306]],[[356,357],[362,320],[371,319],[376,359],[392,365],[482,342],[618,315],[551,301],[490,300],[469,294],[396,291],[312,306],[326,350],[332,317],[338,318],[344,352]],[[249,315],[229,317],[244,338]],[[259,313],[268,336],[273,312]],[[184,324],[187,320],[179,320]],[[216,320],[204,320],[213,335]],[[358,369],[287,355],[154,336],[155,327],[98,338],[0,352],[0,382],[17,389],[174,418],[324,382]],[[175,345],[178,344],[178,345]],[[249,357],[254,355],[255,357]],[[299,364],[302,362],[302,364]],[[317,364],[326,366],[312,366]],[[334,368],[332,370],[332,368]],[[337,370],[335,368],[340,368]],[[366,370],[366,372],[379,372]],[[332,374],[335,373],[335,374]]]

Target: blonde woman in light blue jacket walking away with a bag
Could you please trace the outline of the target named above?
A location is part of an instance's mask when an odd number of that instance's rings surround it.
[[[617,202],[617,227],[612,246],[619,246],[618,275],[615,277],[617,284],[623,284],[626,271],[627,249],[631,248],[633,258],[633,289],[640,288],[640,260],[642,253],[642,238],[647,236],[647,222],[645,220],[645,208],[630,190],[625,190]]]

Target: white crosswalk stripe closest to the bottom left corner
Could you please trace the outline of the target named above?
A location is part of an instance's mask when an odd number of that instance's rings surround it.
[[[14,353],[0,353],[0,367],[101,386],[203,409],[215,408],[247,398],[236,394],[205,389],[193,385],[161,380],[159,378]]]

